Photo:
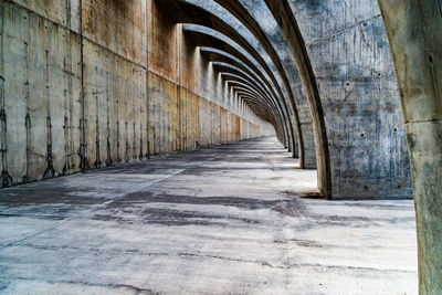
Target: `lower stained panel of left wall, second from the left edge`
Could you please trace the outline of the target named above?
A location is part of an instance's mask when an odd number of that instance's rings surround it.
[[[87,40],[83,55],[88,165],[99,168],[106,162],[144,157],[141,143],[147,146],[144,127],[146,70]],[[112,129],[116,129],[115,137],[112,137]],[[115,149],[118,149],[117,155],[112,152]]]

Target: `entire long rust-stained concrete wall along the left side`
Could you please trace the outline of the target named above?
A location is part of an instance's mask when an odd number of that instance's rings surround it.
[[[3,187],[269,133],[222,105],[154,1],[2,1],[0,15]]]

